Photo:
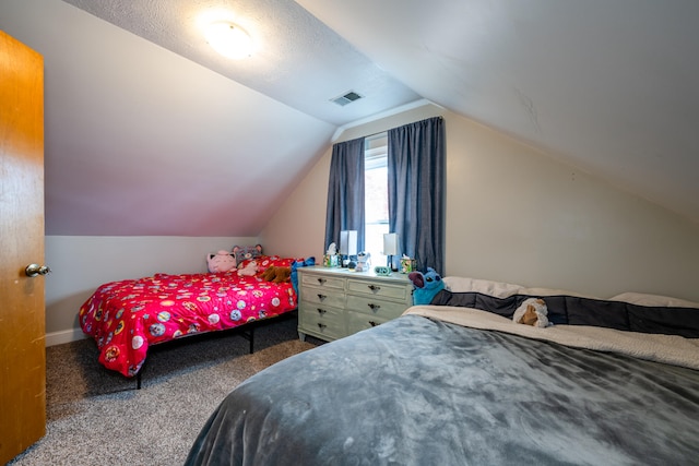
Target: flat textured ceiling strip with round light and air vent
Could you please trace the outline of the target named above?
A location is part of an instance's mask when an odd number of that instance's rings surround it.
[[[281,103],[333,124],[419,98],[335,32],[291,0],[64,0]],[[216,53],[203,26],[229,20],[252,36],[242,60]],[[355,91],[367,97],[340,107]]]

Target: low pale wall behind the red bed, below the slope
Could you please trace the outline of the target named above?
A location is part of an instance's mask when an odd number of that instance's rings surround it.
[[[192,237],[46,237],[47,346],[83,337],[78,311],[95,289],[108,282],[154,273],[206,271],[206,254],[257,238]]]

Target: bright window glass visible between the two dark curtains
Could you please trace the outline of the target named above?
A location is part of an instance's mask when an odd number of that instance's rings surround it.
[[[386,264],[383,234],[389,232],[388,134],[365,139],[365,250],[371,264]]]

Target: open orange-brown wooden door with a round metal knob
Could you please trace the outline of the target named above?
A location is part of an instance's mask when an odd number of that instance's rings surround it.
[[[0,464],[46,431],[44,59],[0,31]]]

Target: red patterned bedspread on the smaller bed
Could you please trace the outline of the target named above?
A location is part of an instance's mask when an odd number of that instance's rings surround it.
[[[107,283],[80,308],[80,325],[95,338],[102,365],[133,377],[150,345],[233,328],[296,309],[291,283],[274,284],[261,277],[268,266],[289,266],[294,261],[258,258],[256,276],[238,276],[234,270]]]

